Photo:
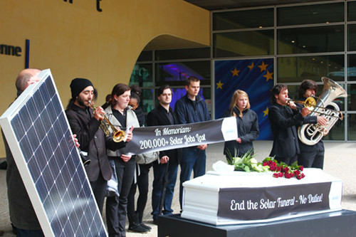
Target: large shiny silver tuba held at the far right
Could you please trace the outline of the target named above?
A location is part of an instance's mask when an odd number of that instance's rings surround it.
[[[321,78],[324,83],[323,92],[316,101],[315,105],[309,105],[313,107],[313,110],[308,116],[323,116],[328,120],[328,124],[325,126],[319,124],[305,124],[299,127],[298,137],[301,142],[307,145],[317,144],[331,128],[335,125],[337,120],[342,120],[342,112],[340,112],[339,106],[333,100],[339,97],[346,98],[347,93],[339,84],[330,78]]]

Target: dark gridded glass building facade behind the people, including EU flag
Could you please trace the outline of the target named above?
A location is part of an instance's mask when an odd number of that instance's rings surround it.
[[[261,75],[252,75],[253,67]],[[189,75],[201,79],[201,95],[215,119],[231,99],[221,90],[246,90],[252,109],[261,114],[260,127],[266,126],[268,88],[285,83],[290,98],[296,98],[301,81],[310,79],[318,83],[320,95],[321,78],[328,77],[348,97],[335,100],[344,118],[323,139],[355,141],[356,1],[211,11],[211,47],[142,51],[130,84],[142,86],[143,107],[150,112],[157,104],[155,88],[171,85],[174,106]]]

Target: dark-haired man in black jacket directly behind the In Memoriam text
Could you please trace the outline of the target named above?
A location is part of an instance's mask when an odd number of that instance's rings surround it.
[[[179,124],[177,116],[169,107],[172,101],[172,89],[169,85],[162,85],[157,91],[157,98],[159,100],[158,107],[152,110],[147,115],[148,126],[161,126],[161,125],[177,125]],[[163,201],[163,214],[172,214],[172,199],[174,194],[174,186],[177,181],[178,164],[182,158],[182,149],[169,149],[159,152],[159,161],[153,162],[153,190],[152,190],[152,218],[154,223],[159,215],[159,203]],[[168,162],[169,161],[169,162]],[[168,170],[167,170],[168,166]],[[162,194],[165,172],[168,172],[168,184],[166,191]],[[164,200],[162,199],[164,195]]]

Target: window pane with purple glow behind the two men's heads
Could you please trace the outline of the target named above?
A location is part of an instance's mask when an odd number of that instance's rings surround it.
[[[201,80],[200,85],[210,85],[210,60],[156,64],[156,86],[184,86],[191,75]]]

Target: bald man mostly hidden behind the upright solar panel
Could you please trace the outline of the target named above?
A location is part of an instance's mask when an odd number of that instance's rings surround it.
[[[41,70],[35,68],[21,70],[16,78],[17,97],[28,85],[38,82],[37,75],[40,72]],[[4,134],[3,138],[7,162],[6,184],[10,221],[16,229],[17,236],[44,236]]]

